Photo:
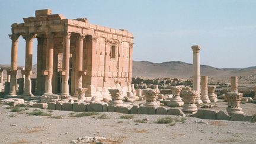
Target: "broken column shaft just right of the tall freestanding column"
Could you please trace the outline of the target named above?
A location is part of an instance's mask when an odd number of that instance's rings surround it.
[[[208,97],[208,76],[201,76],[201,100],[203,103],[210,103]]]

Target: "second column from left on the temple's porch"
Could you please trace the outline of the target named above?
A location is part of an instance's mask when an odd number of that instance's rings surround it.
[[[33,57],[33,39],[36,37],[36,34],[27,34],[23,36],[25,39],[25,86],[23,95],[33,96],[31,92],[31,75],[32,75],[32,57]]]

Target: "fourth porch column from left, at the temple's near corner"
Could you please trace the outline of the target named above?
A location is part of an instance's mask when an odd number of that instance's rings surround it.
[[[62,55],[62,99],[69,98],[69,56],[70,56],[70,37],[71,33],[63,35],[63,55]]]

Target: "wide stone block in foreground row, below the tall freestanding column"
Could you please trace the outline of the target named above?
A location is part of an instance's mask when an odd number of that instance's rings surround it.
[[[214,110],[197,110],[197,113],[192,114],[191,117],[197,117],[199,119],[216,120],[216,111]]]

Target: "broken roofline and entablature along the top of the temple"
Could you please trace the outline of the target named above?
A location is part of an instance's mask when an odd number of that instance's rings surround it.
[[[31,31],[33,31],[34,33],[44,33],[44,31],[50,31],[49,29],[52,29],[52,31],[56,33],[59,33],[61,31],[69,31],[71,33],[81,33],[89,35],[94,35],[95,33],[97,33],[97,37],[117,39],[116,37],[121,36],[126,37],[125,39],[133,39],[133,34],[129,33],[129,31],[127,30],[117,30],[101,25],[90,24],[87,18],[66,19],[63,15],[52,14],[52,10],[50,9],[37,10],[36,17],[23,18],[23,20],[24,23],[12,24],[12,28],[14,29],[14,31],[12,31],[13,33],[31,33]],[[36,27],[37,30],[33,30],[32,27]],[[15,31],[15,29],[20,30]],[[107,36],[108,34],[111,34],[113,36]]]

